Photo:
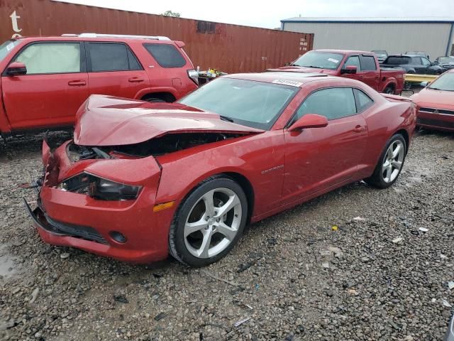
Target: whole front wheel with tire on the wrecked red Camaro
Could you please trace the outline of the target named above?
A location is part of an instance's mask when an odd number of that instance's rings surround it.
[[[184,199],[170,226],[170,254],[189,266],[206,266],[226,256],[243,234],[248,200],[231,178],[204,180]]]

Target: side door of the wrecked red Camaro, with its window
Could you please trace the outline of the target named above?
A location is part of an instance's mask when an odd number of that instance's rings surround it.
[[[284,204],[353,178],[367,145],[366,122],[357,114],[350,87],[313,92],[294,120],[304,114],[326,116],[328,126],[284,131]]]

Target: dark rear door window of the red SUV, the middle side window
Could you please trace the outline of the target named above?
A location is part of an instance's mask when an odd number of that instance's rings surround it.
[[[92,72],[142,70],[137,58],[123,43],[88,43]]]

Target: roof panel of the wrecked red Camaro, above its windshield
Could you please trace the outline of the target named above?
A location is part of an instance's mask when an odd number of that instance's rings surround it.
[[[324,75],[323,73],[303,73],[303,72],[285,72],[285,71],[270,71],[270,72],[257,72],[257,73],[236,73],[223,76],[226,78],[235,78],[238,80],[253,80],[256,82],[266,82],[285,85],[302,87],[308,82],[315,80],[349,80],[348,78]],[[351,80],[353,83],[355,81]],[[292,84],[293,82],[293,84]]]

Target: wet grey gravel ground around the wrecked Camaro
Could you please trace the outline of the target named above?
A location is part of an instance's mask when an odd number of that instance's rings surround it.
[[[452,134],[419,133],[392,188],[354,183],[254,224],[205,269],[41,242],[21,203],[34,200],[26,185],[41,170],[41,138],[0,146],[1,340],[443,337],[454,305]]]

